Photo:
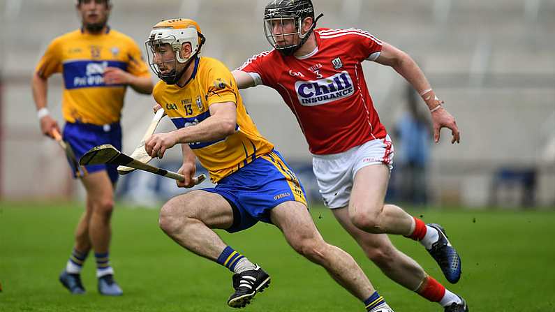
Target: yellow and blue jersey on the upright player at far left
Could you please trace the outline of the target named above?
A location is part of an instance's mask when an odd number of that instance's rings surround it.
[[[104,84],[106,67],[150,77],[133,39],[113,29],[98,35],[77,29],[55,38],[38,62],[36,73],[43,78],[62,73],[61,108],[66,121],[103,125],[119,121],[126,91],[121,84]]]

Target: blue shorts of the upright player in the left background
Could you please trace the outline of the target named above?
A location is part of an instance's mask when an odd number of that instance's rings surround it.
[[[115,148],[121,151],[121,126],[119,123],[114,123],[105,126],[97,126],[94,124],[81,124],[81,123],[66,123],[64,126],[64,140],[71,145],[77,161],[89,149],[102,144],[112,144]],[[75,170],[71,166],[73,177]],[[117,165],[87,165],[85,166],[88,172],[95,172],[106,170],[112,183],[116,183],[119,174],[117,173]]]

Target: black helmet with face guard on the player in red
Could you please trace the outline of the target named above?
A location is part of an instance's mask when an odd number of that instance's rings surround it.
[[[316,21],[322,17],[323,14],[318,15],[314,19],[314,6],[311,0],[272,0],[264,8],[264,33],[269,44],[276,50],[285,55],[291,55],[299,49],[309,38],[313,29],[316,27]],[[302,21],[306,17],[312,17],[312,27],[305,34],[301,34]],[[288,34],[277,35],[294,36],[298,35],[299,38],[294,38],[291,45],[279,46],[276,42],[276,35],[273,34],[272,22],[280,22],[283,25],[284,20],[292,20],[295,24],[295,31]],[[285,38],[283,38],[285,40]]]

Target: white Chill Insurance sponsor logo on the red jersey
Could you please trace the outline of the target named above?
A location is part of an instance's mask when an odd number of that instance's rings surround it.
[[[295,82],[299,103],[303,106],[316,106],[351,96],[355,92],[353,80],[343,71],[332,77],[313,81]]]

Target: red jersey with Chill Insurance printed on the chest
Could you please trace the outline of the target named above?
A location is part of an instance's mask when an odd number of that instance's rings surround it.
[[[262,52],[237,68],[281,94],[312,154],[336,154],[387,132],[373,107],[361,62],[382,43],[358,29],[316,29],[318,47],[304,57]]]

